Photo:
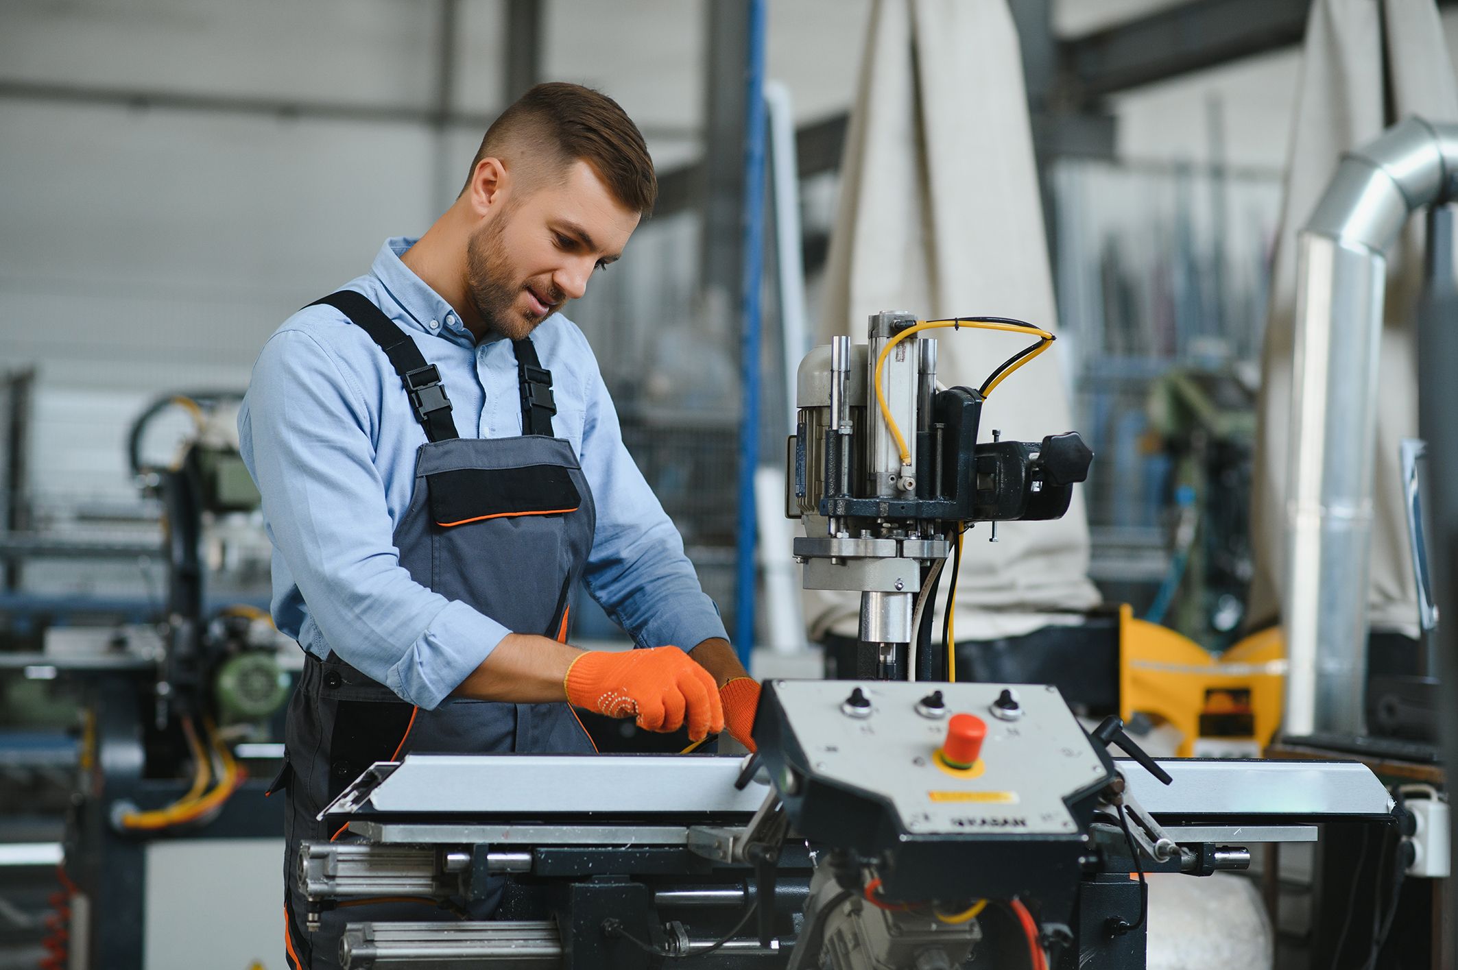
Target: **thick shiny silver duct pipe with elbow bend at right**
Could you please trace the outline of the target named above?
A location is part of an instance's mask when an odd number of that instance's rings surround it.
[[[1445,201],[1458,125],[1408,118],[1343,156],[1298,240],[1282,618],[1287,736],[1363,731],[1385,252]]]

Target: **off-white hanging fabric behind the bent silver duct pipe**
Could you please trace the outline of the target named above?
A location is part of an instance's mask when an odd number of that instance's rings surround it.
[[[1306,22],[1257,403],[1248,616],[1277,619],[1284,585],[1286,476],[1296,312],[1296,233],[1311,218],[1343,151],[1406,115],[1458,121],[1458,82],[1432,0],[1317,0]],[[1413,218],[1388,253],[1372,491],[1369,618],[1417,634],[1417,591],[1403,514],[1398,443],[1417,434],[1413,313],[1422,290],[1423,227]]]

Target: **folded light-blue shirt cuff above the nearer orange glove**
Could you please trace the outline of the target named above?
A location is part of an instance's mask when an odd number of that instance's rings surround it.
[[[385,686],[404,701],[434,711],[512,631],[459,600],[451,600],[426,626]]]

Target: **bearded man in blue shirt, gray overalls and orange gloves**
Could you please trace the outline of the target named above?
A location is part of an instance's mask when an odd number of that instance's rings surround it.
[[[424,236],[386,240],[370,272],[264,345],[239,437],[274,543],[273,615],[308,657],[274,784],[295,970],[335,966],[344,923],[327,912],[305,932],[299,842],[348,837],[315,816],[372,762],[590,753],[572,705],[695,740],[728,724],[751,744],[760,687],[558,313],[656,194],[614,100],[539,84]],[[577,581],[640,650],[567,644]]]

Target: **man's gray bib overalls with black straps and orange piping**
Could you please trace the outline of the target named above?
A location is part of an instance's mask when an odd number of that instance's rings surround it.
[[[341,310],[381,347],[401,377],[427,441],[416,454],[410,508],[395,533],[399,564],[436,593],[516,632],[567,635],[567,597],[592,548],[592,491],[577,456],[554,438],[551,373],[531,339],[516,341],[522,390],[522,437],[461,438],[439,371],[379,307],[353,290],[318,303]],[[306,652],[289,702],[284,768],[284,916],[293,970],[338,966],[346,922],[440,915],[429,906],[395,903],[322,913],[305,932],[306,900],[295,886],[299,843],[325,832],[316,816],[375,762],[408,753],[592,753],[572,708],[563,703],[496,703],[448,698],[434,711],[414,708],[337,654]],[[401,909],[401,907],[405,909]],[[484,918],[496,900],[472,907]],[[478,912],[480,910],[480,912]],[[440,915],[443,916],[443,915]]]

